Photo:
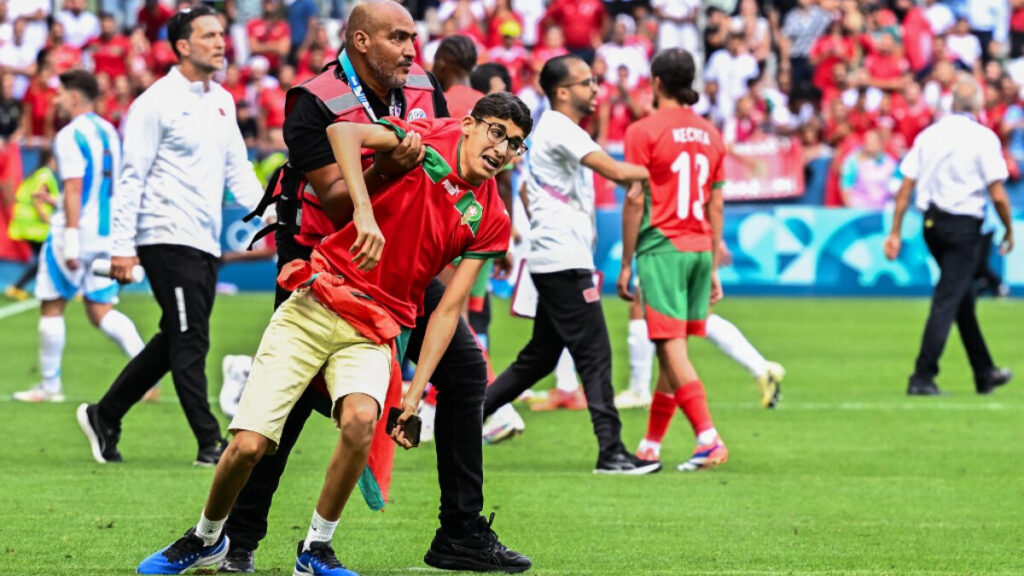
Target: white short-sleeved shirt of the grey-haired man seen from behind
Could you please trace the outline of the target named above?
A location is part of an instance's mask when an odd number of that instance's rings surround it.
[[[916,206],[983,218],[988,184],[1007,179],[999,137],[974,118],[951,114],[918,135],[900,164],[916,180]]]

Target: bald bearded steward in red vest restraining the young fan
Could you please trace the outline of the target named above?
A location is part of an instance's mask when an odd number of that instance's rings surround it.
[[[284,136],[291,167],[298,172],[299,206],[279,203],[278,265],[308,259],[322,238],[352,217],[352,203],[335,163],[327,128],[335,122],[371,123],[385,116],[406,120],[449,116],[436,78],[413,64],[416,28],[412,16],[391,0],[371,0],[353,8],[345,36],[346,49],[319,75],[288,93]],[[359,97],[358,94],[362,94]],[[461,116],[461,114],[460,114]],[[364,158],[366,181],[374,187],[422,161],[418,136],[408,136],[389,155]],[[372,163],[372,164],[371,164]],[[308,186],[306,186],[308,183]],[[291,217],[290,217],[291,216]],[[301,225],[290,222],[301,221]],[[280,270],[280,268],[279,268]],[[435,280],[427,289],[407,357],[416,361],[426,320],[440,301],[444,286]],[[275,307],[289,293],[278,288]],[[469,327],[460,322],[432,378],[437,387],[435,447],[440,485],[440,529],[425,562],[452,570],[522,571],[529,560],[502,545],[483,509],[482,405],[486,364]],[[310,387],[293,408],[275,454],[253,469],[224,526],[230,544],[221,572],[253,572],[253,552],[266,535],[267,515],[288,456],[313,410],[330,417],[326,397]]]

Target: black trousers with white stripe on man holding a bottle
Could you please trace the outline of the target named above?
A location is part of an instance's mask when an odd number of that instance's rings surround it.
[[[160,304],[160,331],[128,362],[99,401],[99,416],[120,422],[167,372],[200,448],[220,441],[220,424],[210,411],[206,354],[210,349],[210,314],[217,285],[217,258],[189,248],[140,246],[138,259]]]

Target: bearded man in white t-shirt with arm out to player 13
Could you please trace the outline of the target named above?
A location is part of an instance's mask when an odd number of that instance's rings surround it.
[[[537,286],[534,333],[516,361],[487,387],[485,416],[554,370],[567,347],[580,371],[599,454],[597,474],[642,475],[660,468],[623,445],[611,386],[611,344],[594,285],[593,170],[629,184],[646,168],[612,160],[580,122],[597,106],[597,79],[579,56],[551,58],[541,71],[551,110],[534,130],[524,203],[529,214],[529,275]]]

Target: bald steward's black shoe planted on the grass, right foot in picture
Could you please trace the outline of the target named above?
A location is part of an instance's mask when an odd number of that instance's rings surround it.
[[[471,572],[525,572],[534,564],[521,553],[510,550],[490,529],[495,515],[480,519],[480,530],[464,538],[453,538],[438,528],[430,549],[423,557],[427,566],[440,570],[468,570]]]

